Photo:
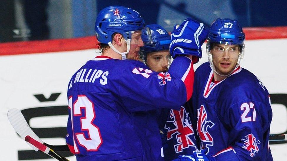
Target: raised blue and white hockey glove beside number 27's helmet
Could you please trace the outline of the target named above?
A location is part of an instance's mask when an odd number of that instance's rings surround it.
[[[171,32],[170,53],[173,59],[177,55],[195,55],[201,58],[201,45],[207,38],[208,29],[203,23],[187,18]]]

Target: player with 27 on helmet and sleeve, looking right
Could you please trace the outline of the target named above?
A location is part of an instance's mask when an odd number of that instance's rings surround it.
[[[209,160],[273,160],[270,97],[263,83],[239,66],[244,40],[238,21],[216,19],[206,46],[209,62],[195,72],[193,117]]]

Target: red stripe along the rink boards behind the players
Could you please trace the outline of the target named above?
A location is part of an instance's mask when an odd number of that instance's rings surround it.
[[[287,26],[243,28],[246,40],[287,38]],[[73,51],[98,48],[96,37],[0,43],[1,55]]]

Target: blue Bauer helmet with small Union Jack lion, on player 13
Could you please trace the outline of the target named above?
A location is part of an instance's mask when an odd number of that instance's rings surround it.
[[[114,33],[120,33],[125,40],[131,39],[131,33],[142,30],[144,20],[139,12],[124,6],[109,6],[101,10],[95,24],[97,39],[108,44]]]

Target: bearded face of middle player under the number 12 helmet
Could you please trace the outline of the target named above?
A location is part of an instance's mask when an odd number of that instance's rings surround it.
[[[150,52],[146,56],[146,65],[155,72],[167,72],[170,58],[168,50]]]

